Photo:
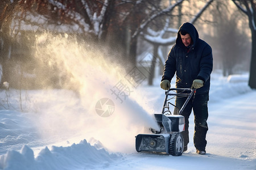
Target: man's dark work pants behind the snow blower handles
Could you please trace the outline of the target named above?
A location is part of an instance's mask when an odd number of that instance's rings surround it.
[[[185,103],[185,100],[187,97],[177,97],[175,101],[175,105],[179,110]],[[194,145],[195,147],[200,150],[204,151],[205,146],[207,145],[206,141],[206,134],[208,131],[208,125],[207,125],[207,118],[208,118],[208,100],[209,100],[209,93],[205,94],[195,94],[189,100],[187,106],[185,107],[183,115],[185,117],[185,130],[182,132],[183,138],[184,138],[184,146],[188,145],[189,142],[189,136],[188,136],[188,126],[189,126],[189,116],[192,112],[194,113],[194,122],[195,122],[195,131],[194,131]],[[174,109],[174,114],[178,114],[178,109]]]

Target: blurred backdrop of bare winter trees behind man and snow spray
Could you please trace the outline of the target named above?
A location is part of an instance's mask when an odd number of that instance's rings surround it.
[[[34,58],[36,36],[49,32],[104,47],[106,57],[127,71],[150,54],[148,84],[162,73],[176,32],[183,22],[195,24],[213,48],[214,69],[224,76],[250,72],[256,88],[255,1],[184,0],[2,0],[0,2],[1,87],[61,88],[55,67]],[[251,23],[253,22],[253,23]],[[146,54],[145,54],[146,52]],[[118,55],[116,55],[118,54]],[[46,71],[47,70],[47,71]],[[45,74],[42,74],[45,72]]]

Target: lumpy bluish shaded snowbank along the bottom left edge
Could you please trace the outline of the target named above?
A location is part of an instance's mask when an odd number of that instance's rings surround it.
[[[20,152],[11,150],[0,158],[0,169],[83,169],[106,168],[114,159],[116,154],[109,154],[104,148],[97,149],[86,140],[69,147],[48,147],[40,151],[35,158],[34,152],[24,145]]]

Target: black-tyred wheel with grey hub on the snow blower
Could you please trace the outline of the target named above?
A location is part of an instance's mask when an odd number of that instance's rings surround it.
[[[172,156],[182,155],[184,148],[183,135],[181,133],[174,133],[170,139],[170,154]]]

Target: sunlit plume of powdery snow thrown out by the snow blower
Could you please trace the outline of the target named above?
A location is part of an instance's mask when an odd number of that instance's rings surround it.
[[[110,151],[133,152],[135,135],[159,127],[151,111],[138,104],[142,96],[131,86],[134,80],[117,64],[106,61],[101,49],[68,35],[37,36],[35,57],[65,73],[64,84],[76,92],[42,94],[48,103],[40,108],[36,121],[44,137],[79,134],[80,140],[96,139]]]

